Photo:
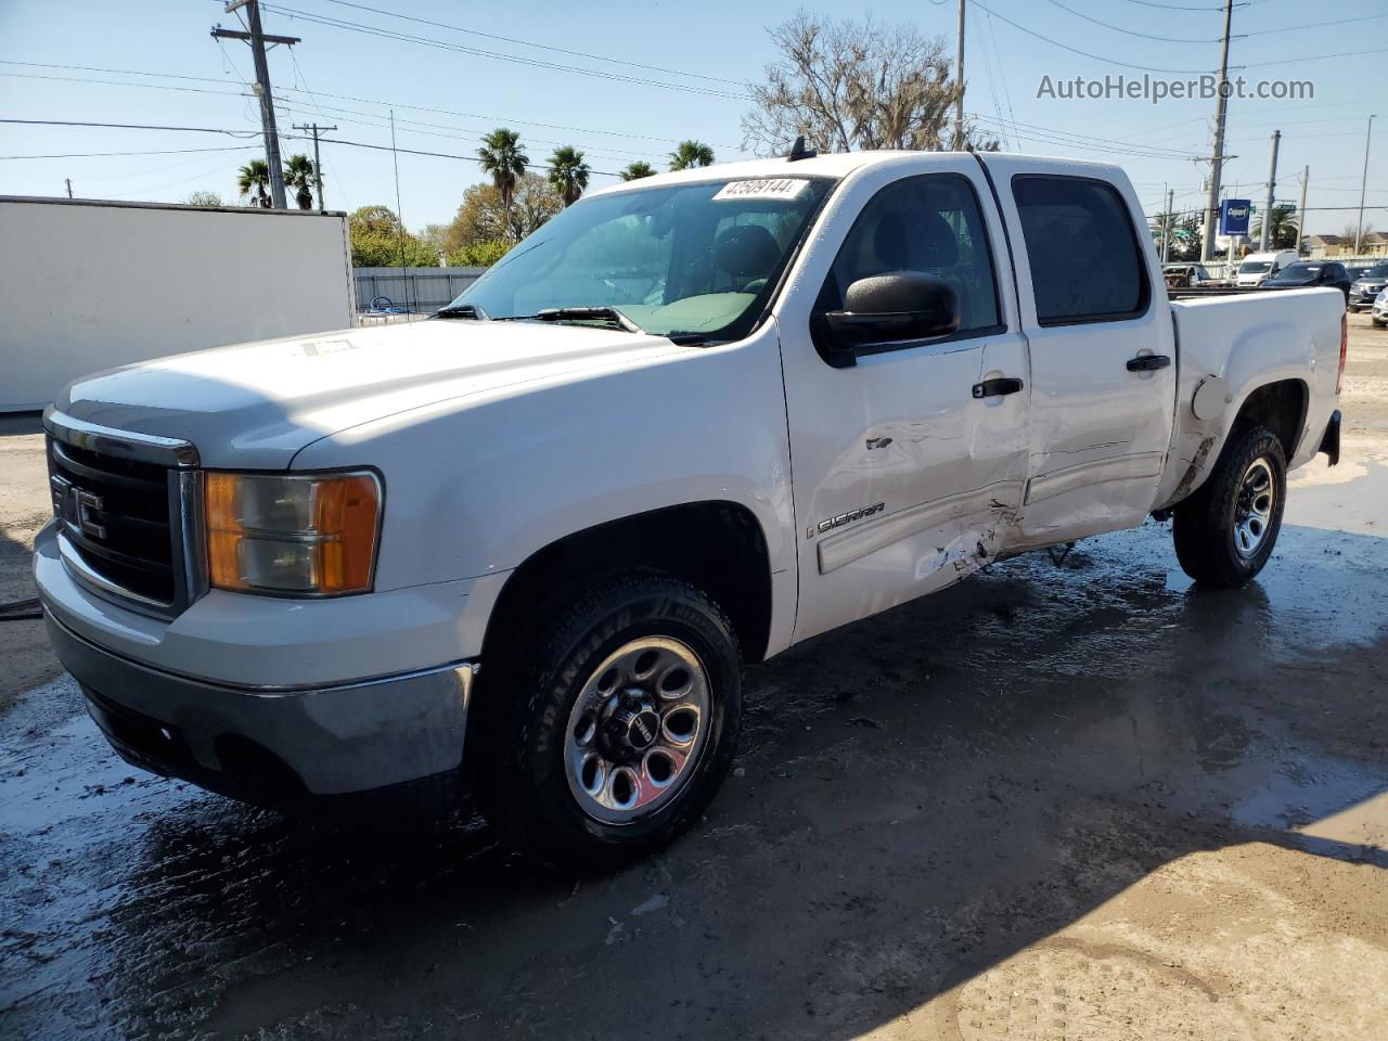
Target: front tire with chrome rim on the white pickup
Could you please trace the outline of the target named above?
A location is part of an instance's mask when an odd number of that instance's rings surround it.
[[[536,619],[489,687],[508,704],[493,705],[482,809],[532,859],[608,872],[679,836],[722,784],[737,636],[705,593],[658,572],[600,579]]]

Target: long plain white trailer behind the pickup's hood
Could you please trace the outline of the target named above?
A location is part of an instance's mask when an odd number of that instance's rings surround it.
[[[343,212],[0,196],[0,412],[89,372],[351,323]]]

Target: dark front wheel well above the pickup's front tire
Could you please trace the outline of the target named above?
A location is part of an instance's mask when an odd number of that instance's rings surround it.
[[[737,502],[688,502],[576,532],[526,558],[487,620],[483,661],[555,594],[636,568],[655,568],[702,589],[727,612],[747,661],[766,655],[772,577],[761,525]]]

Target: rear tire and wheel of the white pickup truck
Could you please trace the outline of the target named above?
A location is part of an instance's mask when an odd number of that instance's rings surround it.
[[[1235,428],[1214,472],[1176,507],[1171,533],[1181,569],[1201,586],[1246,584],[1277,544],[1285,502],[1283,443],[1266,426]]]

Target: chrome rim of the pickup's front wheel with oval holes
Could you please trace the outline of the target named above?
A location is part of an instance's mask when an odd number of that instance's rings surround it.
[[[590,673],[569,711],[569,791],[594,820],[640,820],[688,783],[708,723],[709,682],[698,655],[666,636],[632,640]]]

